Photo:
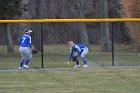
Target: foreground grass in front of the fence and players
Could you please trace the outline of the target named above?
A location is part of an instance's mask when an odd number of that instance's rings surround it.
[[[0,93],[139,93],[140,69],[0,72]]]

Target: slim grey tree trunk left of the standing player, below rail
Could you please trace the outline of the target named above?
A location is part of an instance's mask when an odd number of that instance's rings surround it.
[[[14,52],[14,45],[13,45],[13,39],[11,35],[11,29],[10,24],[4,24],[5,27],[5,36],[6,36],[6,43],[7,43],[7,51],[8,52]]]

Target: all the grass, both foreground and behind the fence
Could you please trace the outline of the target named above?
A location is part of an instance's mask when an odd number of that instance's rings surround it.
[[[17,46],[14,53],[7,53],[5,46],[1,46],[0,93],[139,93],[140,68],[73,69],[75,63],[64,64],[68,55],[66,45],[44,46],[45,68],[71,69],[5,72],[2,69],[17,69],[21,56]],[[93,68],[111,66],[111,53],[102,53],[98,46],[92,46],[87,62]],[[115,50],[116,66],[140,66],[139,62],[139,53],[125,51],[125,47]],[[33,55],[29,66],[41,68],[40,53]]]

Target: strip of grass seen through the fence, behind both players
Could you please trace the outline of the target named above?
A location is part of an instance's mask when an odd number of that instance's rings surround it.
[[[100,52],[99,46],[91,46],[91,50],[87,55],[87,62],[90,66],[111,66],[111,53]],[[69,47],[66,45],[47,45],[44,46],[44,67],[73,67],[74,63],[67,66],[69,56]],[[18,47],[15,47],[14,53],[7,53],[6,47],[0,47],[0,69],[18,68],[20,61],[20,53]],[[83,62],[80,60],[81,65]],[[126,46],[115,48],[115,66],[139,66],[140,53],[130,52]],[[30,63],[31,68],[41,67],[41,53],[33,55]]]

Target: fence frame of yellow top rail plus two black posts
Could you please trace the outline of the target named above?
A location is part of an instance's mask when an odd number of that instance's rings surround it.
[[[44,54],[43,54],[43,26],[42,23],[60,23],[60,22],[110,22],[111,23],[111,40],[112,40],[112,66],[115,64],[114,56],[114,22],[140,22],[140,18],[106,18],[106,19],[31,19],[31,20],[0,20],[0,23],[40,23],[41,26],[41,67],[44,68]]]

